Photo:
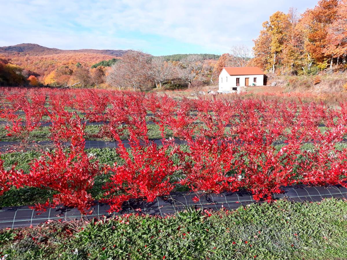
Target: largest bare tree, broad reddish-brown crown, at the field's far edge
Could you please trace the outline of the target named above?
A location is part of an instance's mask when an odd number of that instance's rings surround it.
[[[113,64],[107,82],[114,87],[131,87],[142,90],[149,81],[150,55],[139,51],[128,51],[122,60]]]

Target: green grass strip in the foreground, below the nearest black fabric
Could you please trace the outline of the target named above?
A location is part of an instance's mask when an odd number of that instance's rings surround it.
[[[335,199],[0,232],[7,259],[346,259],[346,243],[347,203]]]

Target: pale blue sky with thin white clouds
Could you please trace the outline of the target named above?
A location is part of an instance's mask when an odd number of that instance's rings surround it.
[[[318,0],[0,0],[0,46],[227,53],[253,46],[262,23]]]

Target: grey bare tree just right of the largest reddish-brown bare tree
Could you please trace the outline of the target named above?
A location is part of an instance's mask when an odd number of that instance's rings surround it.
[[[154,57],[151,61],[150,77],[154,80],[155,86],[161,88],[163,81],[168,80],[173,75],[174,66],[163,57]]]

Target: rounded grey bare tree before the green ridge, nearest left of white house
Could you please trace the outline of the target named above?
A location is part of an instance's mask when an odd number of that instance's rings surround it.
[[[192,54],[179,62],[178,75],[188,83],[188,88],[192,82],[200,75],[203,69],[203,58],[200,55]]]

